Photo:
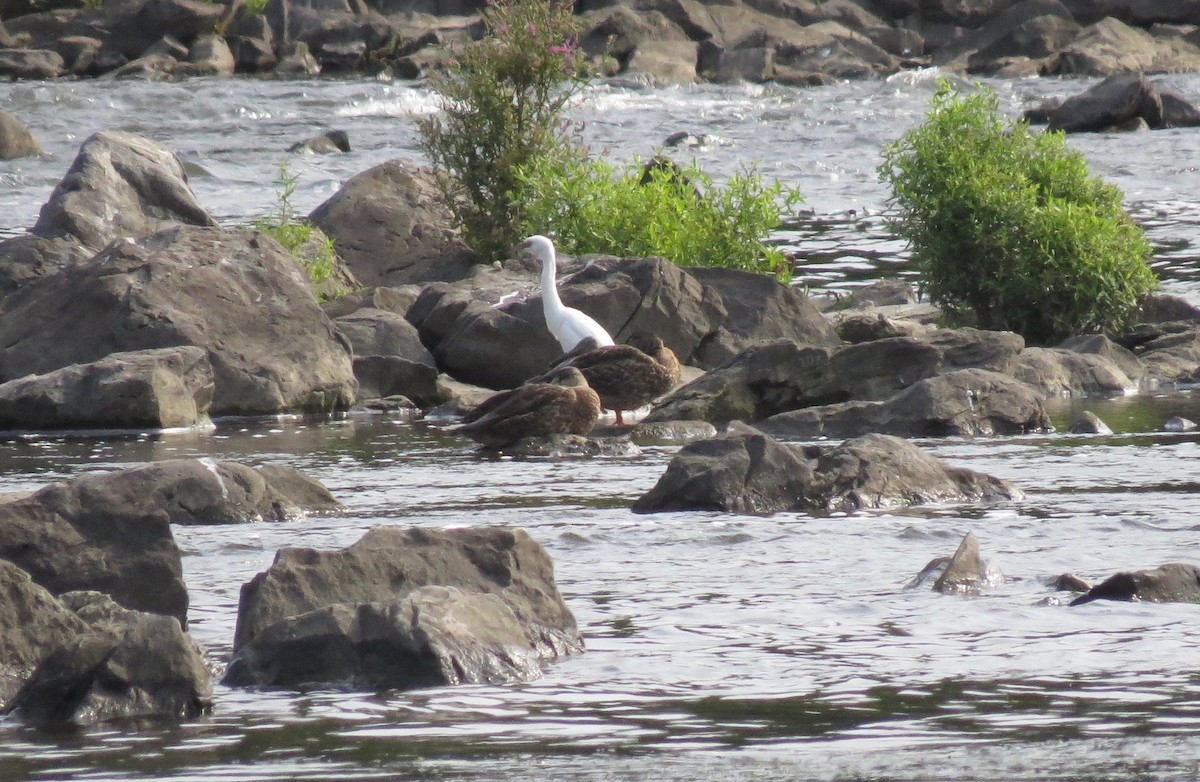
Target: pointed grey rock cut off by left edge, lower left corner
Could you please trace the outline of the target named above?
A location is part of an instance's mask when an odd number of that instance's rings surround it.
[[[86,631],[29,573],[0,559],[0,711],[42,660]]]

